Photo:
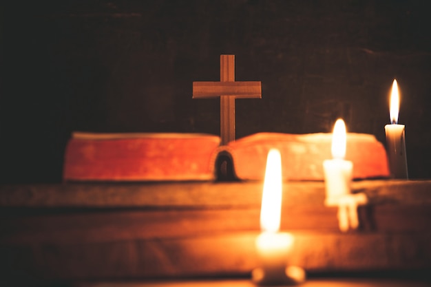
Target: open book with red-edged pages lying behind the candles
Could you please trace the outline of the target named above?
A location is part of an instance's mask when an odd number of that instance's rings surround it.
[[[324,180],[332,134],[258,133],[220,146],[210,134],[92,134],[67,143],[63,180],[170,181],[263,180],[269,149],[282,154],[284,180]],[[353,178],[390,175],[386,151],[370,134],[347,134],[346,160]],[[220,165],[225,162],[229,168]]]

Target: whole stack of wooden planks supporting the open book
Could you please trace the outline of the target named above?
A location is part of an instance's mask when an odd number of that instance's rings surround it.
[[[353,189],[370,203],[359,207],[360,228],[341,233],[337,209],[323,204],[323,182],[284,183],[281,228],[295,236],[292,264],[312,277],[430,270],[431,181],[367,180]],[[261,197],[262,182],[4,185],[0,277],[248,277],[259,264]]]

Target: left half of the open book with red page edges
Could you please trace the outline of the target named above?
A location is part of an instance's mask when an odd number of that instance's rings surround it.
[[[219,145],[209,134],[74,133],[63,180],[214,180]]]

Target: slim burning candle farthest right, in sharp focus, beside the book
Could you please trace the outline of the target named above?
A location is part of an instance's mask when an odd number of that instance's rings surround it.
[[[388,151],[388,160],[390,173],[393,178],[408,178],[405,126],[398,125],[399,114],[399,91],[397,80],[392,83],[392,92],[390,93],[390,125],[385,126],[386,131],[386,149]]]

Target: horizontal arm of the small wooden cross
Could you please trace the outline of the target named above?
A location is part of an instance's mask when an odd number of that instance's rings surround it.
[[[262,98],[260,81],[246,82],[193,82],[193,98]]]

